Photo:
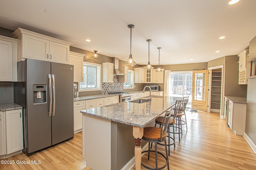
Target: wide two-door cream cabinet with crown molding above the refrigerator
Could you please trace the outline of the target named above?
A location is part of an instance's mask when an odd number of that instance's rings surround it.
[[[54,63],[69,63],[69,47],[72,43],[18,28],[11,37],[20,39],[18,61],[35,59]]]

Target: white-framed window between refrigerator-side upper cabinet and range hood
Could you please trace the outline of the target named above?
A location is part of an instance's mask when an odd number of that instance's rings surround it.
[[[101,90],[101,64],[84,62],[84,81],[80,82],[79,91]]]

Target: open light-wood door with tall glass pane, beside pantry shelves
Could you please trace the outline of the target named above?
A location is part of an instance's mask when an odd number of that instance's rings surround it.
[[[192,109],[207,112],[208,70],[193,71]]]

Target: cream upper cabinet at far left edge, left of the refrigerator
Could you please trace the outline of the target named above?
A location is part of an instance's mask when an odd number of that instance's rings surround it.
[[[0,81],[17,81],[18,40],[0,35]]]

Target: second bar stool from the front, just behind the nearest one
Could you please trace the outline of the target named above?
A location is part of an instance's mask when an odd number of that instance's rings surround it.
[[[181,100],[182,101],[182,100]],[[180,101],[176,100],[175,102],[175,105],[174,107],[171,108],[170,112],[171,112],[171,117],[172,119],[170,118],[169,120],[169,123],[168,123],[168,129],[167,129],[167,137],[169,137],[169,140],[168,140],[168,155],[170,156],[170,146],[174,145],[174,148],[175,148],[175,133],[173,133],[173,137],[170,137],[170,127],[172,127],[172,130],[174,131],[174,125],[175,125],[175,122],[176,122],[176,115],[178,113],[178,109],[174,109],[174,113],[172,113],[173,111],[173,108],[179,108],[181,105]],[[164,122],[164,117],[157,117],[156,120],[155,120],[155,127],[156,127],[156,124],[160,125],[160,127],[162,126]],[[172,139],[172,143],[170,143],[170,139]],[[164,145],[162,143],[158,143],[159,145]],[[152,144],[151,144],[151,148],[152,148]]]

